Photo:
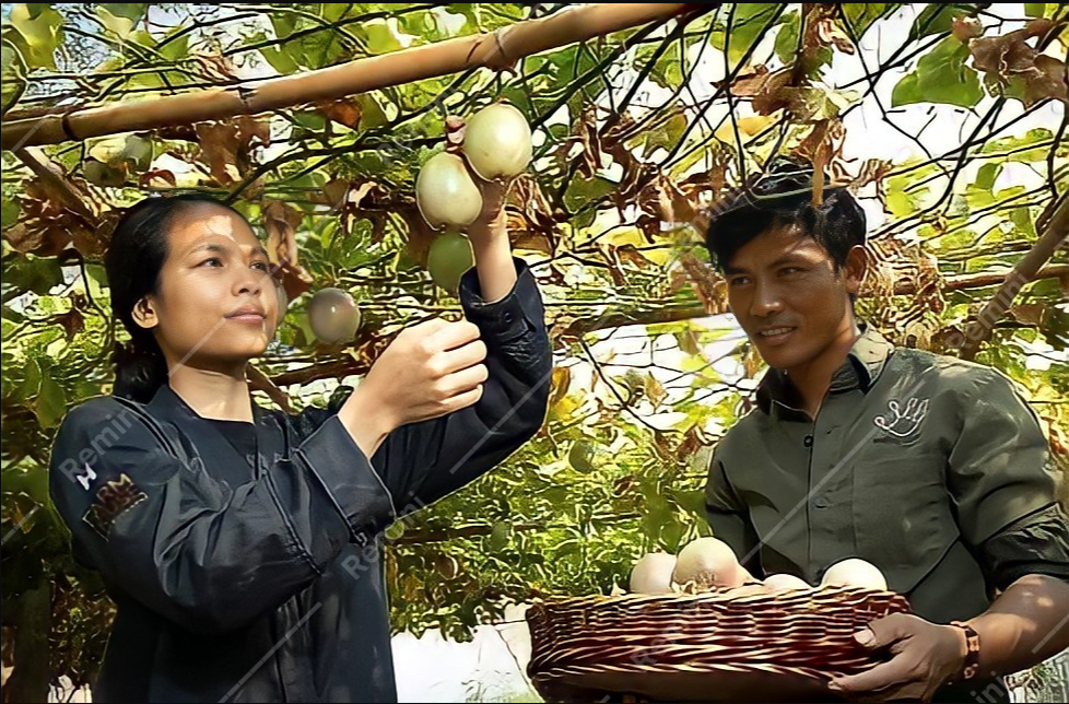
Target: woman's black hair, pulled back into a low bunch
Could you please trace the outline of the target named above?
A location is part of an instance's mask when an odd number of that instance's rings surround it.
[[[167,361],[163,351],[153,332],[134,322],[133,307],[146,295],[160,293],[160,272],[167,260],[167,236],[175,219],[204,203],[240,215],[230,206],[202,193],[154,196],[130,207],[111,233],[111,244],[104,256],[111,315],[130,333],[128,343],[116,342],[111,355],[115,396],[146,403],[167,383]]]

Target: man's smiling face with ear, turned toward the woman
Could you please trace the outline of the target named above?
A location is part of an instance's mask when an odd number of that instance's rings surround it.
[[[827,251],[788,225],[770,230],[725,268],[731,312],[771,367],[804,368],[853,335],[850,294],[860,288],[860,247],[836,273]]]

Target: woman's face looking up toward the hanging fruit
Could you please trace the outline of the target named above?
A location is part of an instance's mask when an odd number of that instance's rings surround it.
[[[271,262],[239,215],[211,203],[176,216],[158,295],[134,306],[153,328],[172,371],[176,364],[230,372],[260,356],[280,322]]]

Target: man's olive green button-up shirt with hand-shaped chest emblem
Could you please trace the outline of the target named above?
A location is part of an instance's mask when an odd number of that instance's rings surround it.
[[[990,367],[866,329],[815,419],[777,369],[756,396],[715,448],[706,506],[714,533],[759,574],[818,584],[861,558],[918,615],[968,619],[995,590],[985,541],[1056,504],[1038,420]]]

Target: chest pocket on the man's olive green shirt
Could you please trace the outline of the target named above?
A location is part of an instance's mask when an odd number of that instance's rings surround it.
[[[900,451],[856,465],[858,553],[883,571],[894,591],[913,589],[958,537],[944,466],[937,451]]]

